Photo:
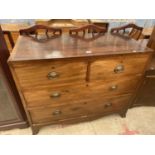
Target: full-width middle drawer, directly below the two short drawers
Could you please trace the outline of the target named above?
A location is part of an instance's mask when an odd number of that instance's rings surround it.
[[[49,87],[36,91],[25,91],[24,96],[28,107],[36,106],[58,106],[73,102],[80,102],[85,98],[99,98],[100,96],[113,96],[130,94],[137,87],[140,76],[126,77],[103,83],[90,82],[79,85],[68,85],[67,87]]]

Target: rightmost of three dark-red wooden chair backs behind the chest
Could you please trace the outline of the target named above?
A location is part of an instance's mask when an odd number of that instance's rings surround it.
[[[131,29],[129,33],[126,33],[127,29]],[[129,37],[138,40],[142,34],[143,28],[139,27],[133,23],[129,23],[124,26],[116,27],[111,29],[111,33],[120,33],[120,31],[123,31],[123,35],[127,34]]]

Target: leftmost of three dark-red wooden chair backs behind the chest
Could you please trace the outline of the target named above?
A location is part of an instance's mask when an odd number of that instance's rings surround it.
[[[34,25],[27,29],[19,31],[20,35],[28,36],[36,41],[46,41],[56,37],[60,37],[62,30],[59,28],[52,28],[46,25]],[[41,36],[39,36],[41,34]]]

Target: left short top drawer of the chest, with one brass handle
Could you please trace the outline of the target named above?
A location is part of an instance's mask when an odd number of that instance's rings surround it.
[[[62,86],[85,81],[84,62],[27,62],[14,64],[16,76],[23,90]]]

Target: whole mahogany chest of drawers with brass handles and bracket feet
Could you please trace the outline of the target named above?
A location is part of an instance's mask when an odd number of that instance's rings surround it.
[[[8,63],[36,134],[48,124],[125,117],[151,56],[145,41],[108,33],[43,43],[20,36]]]

